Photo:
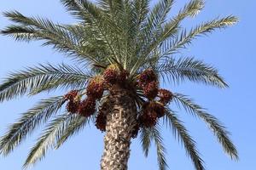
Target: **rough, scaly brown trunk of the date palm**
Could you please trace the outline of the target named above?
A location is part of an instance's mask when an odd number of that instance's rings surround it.
[[[102,170],[126,170],[130,156],[131,133],[136,124],[136,105],[125,90],[117,89],[109,96]]]

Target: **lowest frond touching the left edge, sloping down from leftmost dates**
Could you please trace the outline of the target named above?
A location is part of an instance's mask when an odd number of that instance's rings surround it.
[[[22,114],[20,119],[1,137],[0,153],[3,156],[9,155],[36,127],[46,122],[50,116],[54,116],[64,102],[65,99],[62,96],[43,99],[31,110]]]

